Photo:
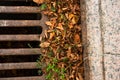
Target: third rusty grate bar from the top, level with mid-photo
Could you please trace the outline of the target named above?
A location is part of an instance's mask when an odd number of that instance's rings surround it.
[[[0,35],[0,41],[39,41],[40,35]]]

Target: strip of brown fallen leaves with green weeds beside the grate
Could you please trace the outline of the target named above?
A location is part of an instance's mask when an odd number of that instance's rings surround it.
[[[50,80],[83,80],[80,0],[33,0],[49,17],[41,68]]]

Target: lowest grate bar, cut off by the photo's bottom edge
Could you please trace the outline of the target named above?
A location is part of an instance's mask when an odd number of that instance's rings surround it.
[[[0,78],[0,80],[46,80],[45,76]]]

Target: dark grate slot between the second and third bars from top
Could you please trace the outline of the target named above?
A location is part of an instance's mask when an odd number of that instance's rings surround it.
[[[1,27],[0,34],[41,34],[42,27]]]

